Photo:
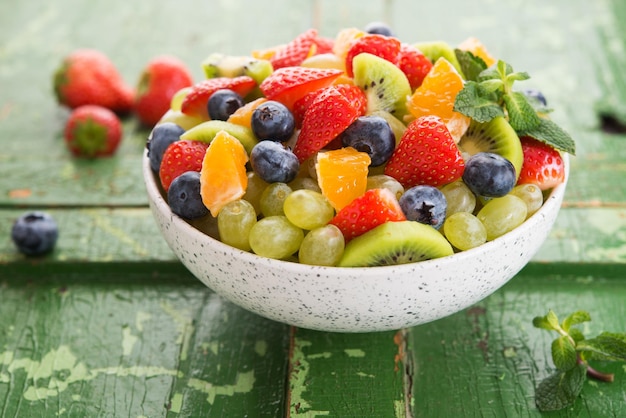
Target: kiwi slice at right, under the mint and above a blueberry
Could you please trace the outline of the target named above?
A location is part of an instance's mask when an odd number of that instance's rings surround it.
[[[472,120],[458,145],[461,151],[469,155],[479,152],[500,154],[513,164],[519,177],[524,152],[519,137],[504,117],[499,116],[484,123]]]

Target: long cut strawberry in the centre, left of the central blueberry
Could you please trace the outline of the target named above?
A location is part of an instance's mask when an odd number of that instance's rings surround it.
[[[359,90],[356,86],[352,87]],[[293,153],[301,163],[328,145],[363,115],[364,107],[358,103],[355,105],[355,97],[358,96],[350,86],[337,85],[322,89],[313,98],[304,113],[302,128],[293,148]],[[365,96],[357,100],[365,102]]]

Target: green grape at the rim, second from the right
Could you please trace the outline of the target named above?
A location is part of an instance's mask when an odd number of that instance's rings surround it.
[[[508,194],[488,201],[476,216],[487,229],[487,241],[491,241],[521,225],[527,212],[522,199]]]

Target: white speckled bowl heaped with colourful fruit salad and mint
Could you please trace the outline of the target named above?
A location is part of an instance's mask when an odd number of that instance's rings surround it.
[[[434,321],[513,278],[557,218],[573,141],[475,39],[309,30],[202,66],[143,174],[174,254],[249,311],[337,332]]]

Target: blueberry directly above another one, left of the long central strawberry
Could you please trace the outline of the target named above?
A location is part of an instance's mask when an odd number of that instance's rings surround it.
[[[285,142],[296,127],[293,114],[282,103],[269,100],[252,112],[252,132],[263,141]]]

